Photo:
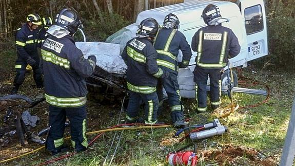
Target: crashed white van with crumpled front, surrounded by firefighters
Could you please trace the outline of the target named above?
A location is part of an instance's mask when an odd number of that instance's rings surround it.
[[[185,3],[155,8],[141,12],[134,24],[131,24],[116,33],[109,36],[105,43],[102,42],[77,42],[85,57],[90,54],[96,56],[96,70],[94,75],[88,79],[88,83],[98,86],[107,86],[110,93],[116,94],[125,89],[125,71],[126,64],[121,58],[127,41],[135,37],[137,25],[147,17],[156,19],[160,24],[164,17],[173,13],[179,17],[181,31],[191,43],[192,36],[201,27],[206,26],[202,20],[202,11],[208,4],[217,5],[220,8],[222,16],[229,20],[223,23],[223,26],[229,27],[237,35],[241,45],[241,52],[237,57],[229,60],[231,67],[246,67],[247,62],[266,56],[267,48],[267,28],[266,13],[263,0],[249,1],[240,0],[238,3],[226,1],[202,1],[186,0]],[[259,16],[260,21],[252,22],[252,17]],[[192,52],[189,66],[179,70],[178,81],[180,85],[180,94],[184,98],[194,98],[193,73],[195,67],[196,52]],[[182,52],[180,51],[178,61],[182,61]],[[227,67],[225,68],[225,70]],[[225,72],[227,73],[227,72]],[[222,88],[227,88],[227,77],[222,77]],[[233,82],[238,84],[237,75],[233,72]]]

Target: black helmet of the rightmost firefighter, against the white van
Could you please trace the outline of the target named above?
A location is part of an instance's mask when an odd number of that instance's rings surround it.
[[[206,8],[203,10],[202,17],[204,22],[208,25],[211,20],[221,17],[219,7],[213,4],[207,5]]]

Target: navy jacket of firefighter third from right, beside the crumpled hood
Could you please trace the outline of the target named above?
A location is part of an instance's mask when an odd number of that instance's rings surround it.
[[[134,86],[155,87],[160,69],[156,63],[157,52],[147,38],[133,38],[127,42],[122,58],[127,64],[127,82]],[[153,76],[154,75],[154,76]],[[159,77],[160,77],[159,75]]]

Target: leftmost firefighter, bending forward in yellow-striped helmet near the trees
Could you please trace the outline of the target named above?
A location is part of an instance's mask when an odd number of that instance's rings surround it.
[[[36,29],[41,24],[41,18],[38,14],[29,14],[27,16],[27,23],[16,31],[16,76],[13,81],[11,94],[16,94],[19,86],[23,84],[28,64],[32,66],[33,78],[37,88],[43,87],[42,71],[39,67],[40,58],[38,57],[37,45],[34,43]]]

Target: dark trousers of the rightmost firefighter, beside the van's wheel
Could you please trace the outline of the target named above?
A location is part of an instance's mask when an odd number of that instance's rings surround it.
[[[221,104],[221,69],[204,69],[198,66],[194,71],[195,99],[198,102],[198,111],[207,110],[207,81],[210,78],[210,103],[211,108],[216,109]]]

